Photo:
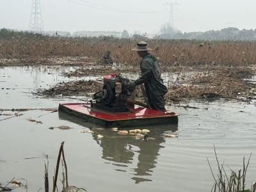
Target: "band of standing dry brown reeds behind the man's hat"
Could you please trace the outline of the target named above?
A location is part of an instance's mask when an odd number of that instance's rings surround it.
[[[198,42],[190,40],[146,40],[163,65],[254,65],[256,42]],[[117,63],[138,63],[131,52],[136,40],[102,38],[14,38],[0,42],[0,57],[89,56],[102,58],[111,51]]]

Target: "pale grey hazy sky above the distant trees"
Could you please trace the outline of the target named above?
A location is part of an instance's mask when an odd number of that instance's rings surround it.
[[[179,4],[174,8],[175,28],[181,31],[228,26],[256,28],[255,0],[175,2]],[[0,28],[29,29],[31,3],[32,0],[0,0]],[[127,29],[129,33],[156,33],[169,20],[166,3],[166,0],[41,0],[45,31],[70,32]]]

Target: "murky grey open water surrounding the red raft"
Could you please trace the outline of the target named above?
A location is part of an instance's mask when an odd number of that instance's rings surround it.
[[[70,68],[0,68],[0,108],[56,108],[59,102],[77,102],[31,93],[68,81],[60,76],[67,70]],[[252,152],[246,182],[250,186],[256,180],[255,104],[218,101],[190,105],[200,109],[170,107],[180,114],[179,125],[144,127],[155,138],[148,142],[104,129],[81,133],[99,126],[63,113],[24,111],[20,112],[22,116],[3,120],[10,117],[3,113],[13,113],[4,111],[0,116],[0,183],[24,178],[28,191],[44,189],[44,156],[49,156],[52,178],[58,148],[65,141],[69,183],[88,191],[211,191],[213,179],[207,157],[216,173],[213,145],[227,170],[241,168],[243,156],[247,158]],[[29,122],[28,118],[42,124]],[[60,125],[72,129],[48,129]],[[163,137],[170,132],[179,137]],[[97,134],[104,138],[97,139]]]

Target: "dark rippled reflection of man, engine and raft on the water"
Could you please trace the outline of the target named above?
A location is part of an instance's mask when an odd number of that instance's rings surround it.
[[[99,127],[99,125],[83,122],[84,120],[80,118],[62,112],[59,112],[59,116],[61,119],[83,125],[84,127]],[[140,128],[138,127],[138,129]],[[132,129],[136,129],[136,127],[132,127]],[[178,127],[177,125],[159,125],[147,127],[147,129],[150,130],[148,136],[152,138],[149,141],[137,139],[134,136],[120,136],[117,132],[111,131],[111,129],[96,128],[93,129],[94,132],[92,133],[93,140],[102,147],[102,159],[111,161],[116,171],[131,172],[131,179],[136,184],[144,181],[152,181],[150,176],[153,174],[154,168],[156,168],[157,156],[160,155],[159,150],[164,148],[162,145],[165,142],[163,134],[166,132],[175,132]],[[104,137],[99,140],[97,138],[98,134],[102,134]]]

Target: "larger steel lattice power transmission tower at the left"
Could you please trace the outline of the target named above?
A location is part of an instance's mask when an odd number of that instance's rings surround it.
[[[34,32],[44,31],[40,0],[32,0],[29,29]]]

